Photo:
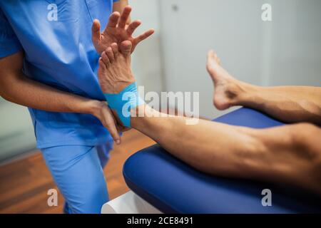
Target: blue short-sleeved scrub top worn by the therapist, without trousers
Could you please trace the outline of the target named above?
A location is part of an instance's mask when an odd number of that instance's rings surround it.
[[[113,1],[117,0],[0,1],[0,57],[24,50],[23,71],[29,78],[105,100],[98,84],[99,56],[91,41],[91,25],[98,19],[105,28]],[[56,14],[50,4],[55,4]],[[93,115],[34,108],[29,112],[39,148],[101,145],[112,140]]]

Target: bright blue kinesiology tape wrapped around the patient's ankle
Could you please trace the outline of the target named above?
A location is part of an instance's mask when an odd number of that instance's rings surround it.
[[[104,95],[109,107],[117,112],[123,125],[131,128],[131,109],[144,103],[138,95],[136,83],[131,83],[120,93],[105,93]]]

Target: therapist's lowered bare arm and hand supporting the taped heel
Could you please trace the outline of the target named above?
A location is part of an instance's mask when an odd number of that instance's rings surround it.
[[[2,98],[39,110],[94,115],[109,130],[113,139],[120,142],[115,120],[104,101],[90,100],[33,81],[22,73],[23,61],[22,51],[0,58],[0,95]]]

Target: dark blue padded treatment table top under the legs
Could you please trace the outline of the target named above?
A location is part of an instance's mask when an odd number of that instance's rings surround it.
[[[249,108],[240,108],[214,121],[250,128],[283,124]],[[165,213],[321,212],[321,198],[311,192],[207,175],[173,157],[159,145],[129,157],[123,166],[123,176],[133,192]],[[264,189],[272,192],[271,207],[262,205]]]

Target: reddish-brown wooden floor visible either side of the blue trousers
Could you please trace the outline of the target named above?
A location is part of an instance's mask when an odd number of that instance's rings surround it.
[[[104,173],[110,199],[128,191],[123,180],[123,162],[134,152],[155,142],[131,130],[111,152]],[[58,193],[58,207],[49,207],[47,191],[56,187],[40,152],[0,167],[0,213],[61,213],[63,197]]]

